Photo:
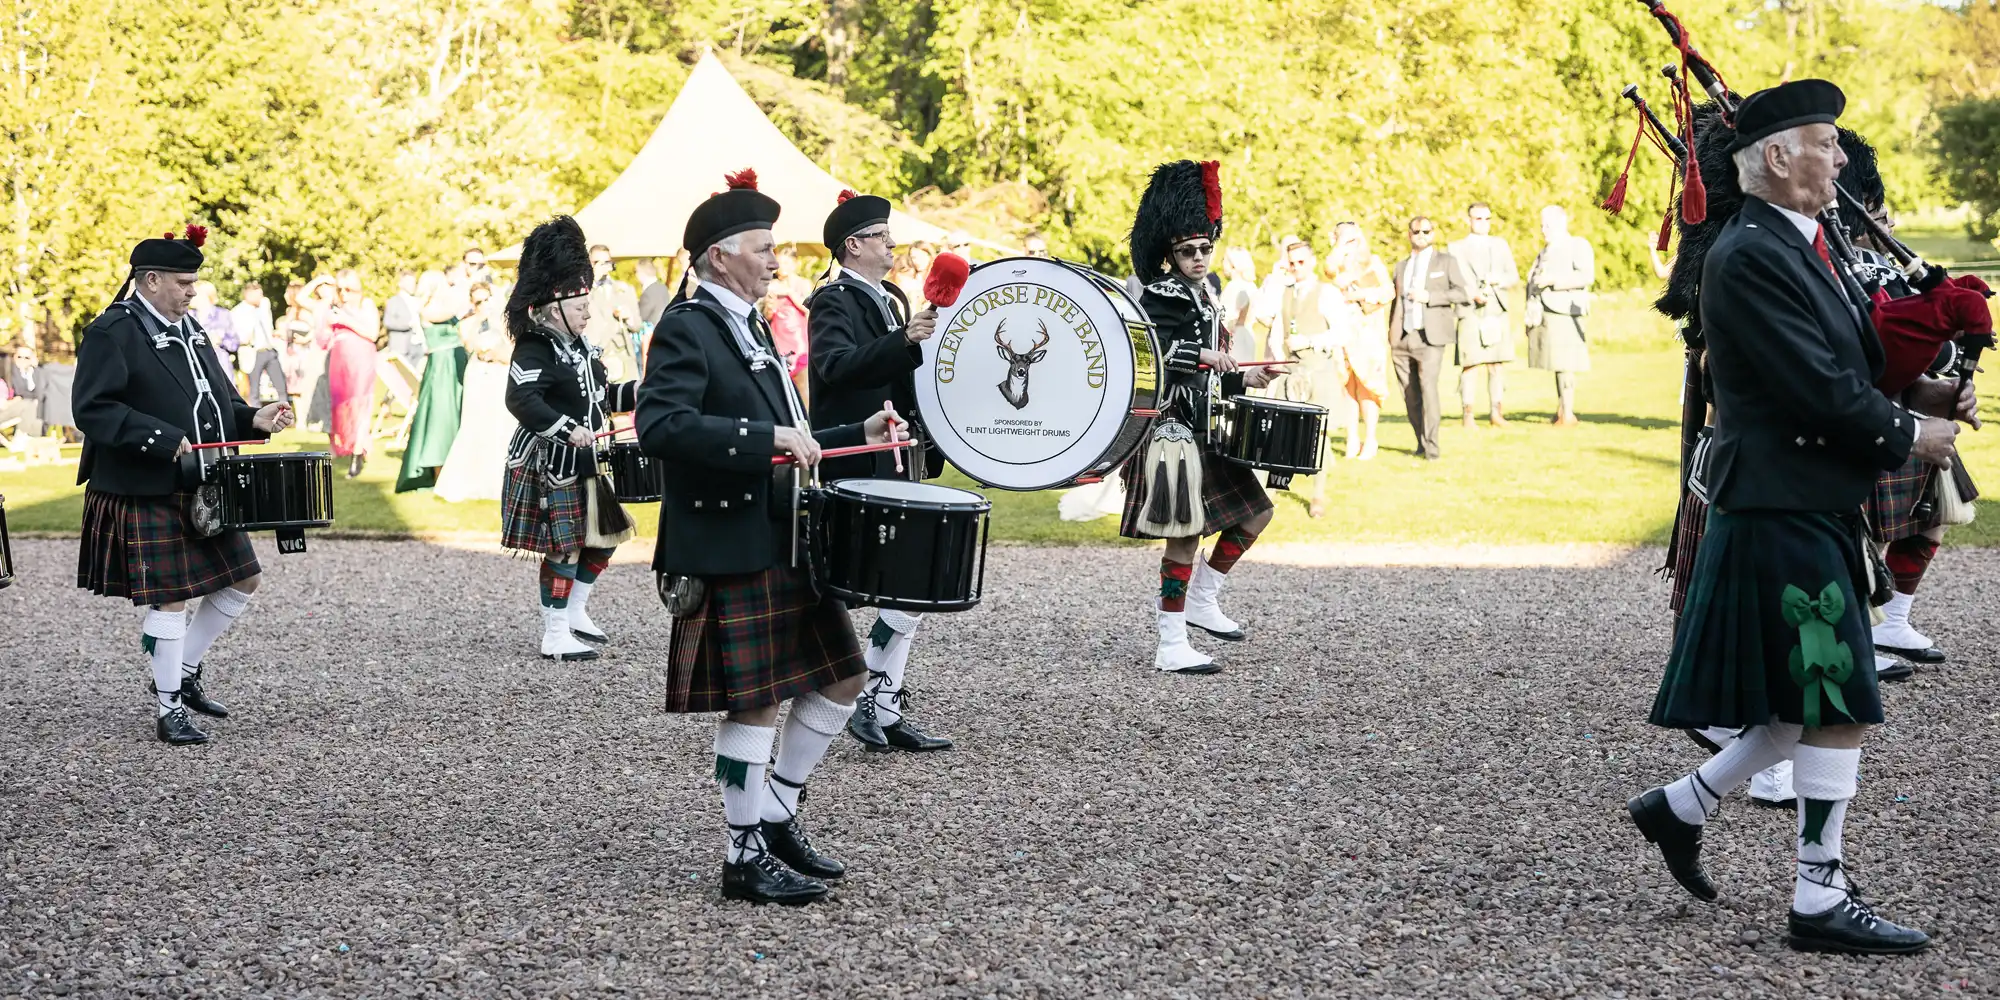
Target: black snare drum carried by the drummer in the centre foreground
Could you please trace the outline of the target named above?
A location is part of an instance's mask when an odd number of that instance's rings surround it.
[[[962,612],[986,584],[992,502],[906,480],[840,480],[820,492],[814,572],[848,604]]]

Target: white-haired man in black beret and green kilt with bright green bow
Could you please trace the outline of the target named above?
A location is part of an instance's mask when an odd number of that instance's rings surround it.
[[[1746,198],[1704,260],[1698,304],[1716,408],[1712,506],[1650,720],[1744,732],[1626,810],[1672,876],[1714,900],[1702,826],[1722,796],[1790,758],[1790,944],[1906,954],[1930,938],[1876,916],[1842,866],[1860,744],[1882,722],[1860,508],[1910,454],[1948,462],[1958,428],[1874,388],[1884,354],[1866,296],[1832,266],[1814,218],[1846,164],[1834,128],[1844,104],[1834,84],[1798,80],[1736,112],[1732,162]],[[1942,382],[1916,396],[1922,412],[1974,408]]]

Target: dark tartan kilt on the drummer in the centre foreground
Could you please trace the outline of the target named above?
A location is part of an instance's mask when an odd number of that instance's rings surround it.
[[[666,710],[748,712],[866,670],[848,608],[806,570],[712,576],[702,610],[674,620]]]

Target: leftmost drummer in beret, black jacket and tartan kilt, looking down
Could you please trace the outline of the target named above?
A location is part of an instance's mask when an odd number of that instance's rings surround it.
[[[242,532],[200,534],[190,504],[202,462],[194,444],[266,438],[292,426],[292,406],[254,408],[188,304],[206,230],[166,234],[132,250],[132,294],[112,302],[76,344],[76,428],[84,456],[84,538],[76,586],[146,608],[154,732],[182,746],[208,742],[188,710],[228,718],[202,688],[202,658],[250,604],[262,580]],[[218,452],[208,452],[218,454]],[[188,602],[202,598],[192,620]]]

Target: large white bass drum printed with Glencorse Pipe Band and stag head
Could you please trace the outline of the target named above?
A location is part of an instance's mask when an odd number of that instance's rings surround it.
[[[1120,282],[1048,258],[972,268],[916,378],[938,452],[982,486],[1096,482],[1160,416],[1160,348]]]

